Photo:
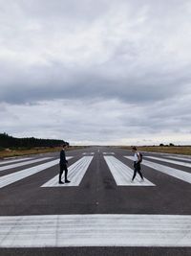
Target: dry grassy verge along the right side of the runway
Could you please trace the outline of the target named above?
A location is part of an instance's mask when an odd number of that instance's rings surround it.
[[[131,150],[131,147],[119,147],[123,150]],[[138,151],[153,151],[191,155],[191,146],[174,146],[174,147],[159,147],[159,146],[141,146],[137,147]]]

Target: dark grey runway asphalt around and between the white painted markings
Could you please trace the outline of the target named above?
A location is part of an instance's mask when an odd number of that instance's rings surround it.
[[[155,186],[117,186],[105,159],[105,155],[115,156],[121,163],[132,167],[133,162],[124,156],[132,156],[131,151],[116,148],[92,147],[78,151],[67,151],[69,167],[83,156],[93,154],[78,186],[41,187],[58,174],[58,165],[27,176],[8,186],[0,188],[0,217],[33,215],[191,215],[191,184],[172,175],[155,172],[142,165],[142,173]],[[103,154],[103,152],[107,152]],[[115,154],[111,154],[114,152]],[[145,156],[165,157],[171,155],[143,153]],[[59,152],[28,156],[32,159],[52,157],[40,163],[17,166],[0,172],[0,178],[18,173],[39,164],[59,158]],[[20,162],[23,162],[20,158]],[[18,158],[19,159],[19,158]],[[31,160],[32,160],[31,159]],[[191,174],[191,168],[161,160],[149,159],[181,172]],[[171,158],[173,160],[173,158]],[[174,159],[175,160],[175,159]],[[26,160],[26,163],[29,160]],[[185,158],[182,163],[191,163]],[[11,163],[0,166],[8,166]],[[13,163],[12,163],[13,165]],[[190,223],[191,224],[191,223]],[[115,236],[115,233],[114,233]],[[191,241],[190,241],[191,244]],[[3,247],[0,255],[191,255],[190,246],[63,246],[63,247]]]

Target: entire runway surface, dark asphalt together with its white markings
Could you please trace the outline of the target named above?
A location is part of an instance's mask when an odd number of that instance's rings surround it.
[[[144,152],[144,181],[132,152],[67,151],[0,161],[0,255],[191,255],[191,157]],[[64,175],[63,175],[64,176]]]

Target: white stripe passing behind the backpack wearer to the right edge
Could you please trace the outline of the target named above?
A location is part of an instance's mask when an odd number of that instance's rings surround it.
[[[130,159],[130,160],[134,160],[134,156],[125,156],[126,158]],[[175,168],[171,168],[168,166],[164,166],[164,165],[160,165],[154,162],[150,162],[147,160],[142,160],[142,164],[148,167],[153,168],[156,171],[159,171],[160,173],[163,173],[165,175],[171,175],[174,177],[177,177],[185,182],[191,183],[191,174],[180,171],[178,169]]]

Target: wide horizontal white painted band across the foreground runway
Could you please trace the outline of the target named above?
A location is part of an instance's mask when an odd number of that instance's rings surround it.
[[[0,247],[191,246],[188,215],[0,217]]]

